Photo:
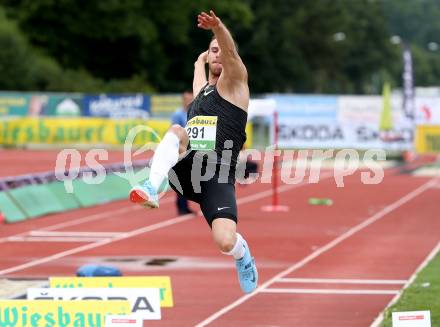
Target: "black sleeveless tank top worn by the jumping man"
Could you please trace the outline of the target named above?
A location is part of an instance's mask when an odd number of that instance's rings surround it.
[[[238,154],[246,141],[247,112],[223,99],[215,85],[207,84],[188,109],[188,121],[196,116],[217,116],[215,151],[218,163],[225,164],[222,151],[230,149],[230,166],[235,170]]]

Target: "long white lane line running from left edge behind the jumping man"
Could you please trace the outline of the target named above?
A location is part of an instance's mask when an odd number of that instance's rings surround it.
[[[328,176],[323,177],[321,179],[325,179],[325,178],[328,178],[330,176],[332,176],[332,174],[329,174]],[[300,187],[300,186],[304,186],[304,185],[310,185],[310,184],[306,183],[306,182],[303,182],[303,183],[299,183],[299,184],[283,185],[283,186],[278,188],[278,191],[280,193],[281,192],[286,192],[288,190],[291,190],[291,189],[294,189],[294,188],[297,188],[297,187]],[[271,194],[272,194],[272,191],[270,191],[270,192],[267,192],[267,191],[258,192],[256,194],[252,194],[250,196],[245,196],[243,198],[238,199],[237,200],[237,204],[243,204],[243,203],[251,202],[251,201],[249,201],[249,198],[252,199],[252,201],[255,201],[255,200],[259,200],[260,198],[264,198],[266,196],[269,196]],[[147,233],[147,232],[151,232],[151,231],[154,231],[154,230],[157,230],[157,229],[160,229],[160,228],[164,228],[164,227],[172,226],[172,225],[175,225],[175,224],[179,224],[181,222],[193,219],[194,217],[196,217],[196,215],[194,215],[194,214],[178,216],[178,217],[175,217],[175,218],[172,218],[172,219],[165,220],[165,221],[160,222],[160,223],[156,223],[156,224],[153,224],[153,225],[145,226],[143,228],[138,228],[138,229],[135,229],[135,230],[130,231],[130,232],[120,233],[120,235],[118,235],[118,236],[116,236],[114,238],[111,238],[111,239],[100,240],[100,241],[92,243],[92,244],[86,244],[86,245],[83,245],[83,246],[80,246],[80,247],[77,247],[77,248],[73,248],[73,249],[70,249],[70,250],[67,250],[67,251],[59,252],[59,253],[56,253],[56,254],[53,254],[53,255],[50,255],[50,256],[47,256],[47,257],[43,257],[43,258],[40,258],[40,259],[37,259],[37,260],[33,260],[33,261],[27,262],[25,264],[21,264],[21,265],[17,265],[17,266],[13,266],[13,267],[10,267],[10,268],[7,268],[7,269],[0,270],[0,275],[10,274],[10,273],[13,273],[13,272],[16,272],[16,271],[20,271],[20,270],[23,270],[23,269],[27,269],[27,268],[31,268],[31,267],[34,267],[34,266],[38,266],[38,265],[43,264],[43,263],[47,263],[47,262],[50,262],[50,261],[61,259],[61,258],[64,258],[66,256],[69,256],[69,255],[72,255],[72,254],[76,254],[76,253],[80,253],[80,252],[83,252],[83,251],[91,250],[91,249],[94,249],[94,248],[97,248],[97,247],[100,247],[100,246],[103,246],[103,245],[106,245],[106,244],[110,244],[110,243],[113,243],[113,242],[116,242],[116,241],[120,241],[120,240],[126,239],[126,238],[130,238],[130,237],[137,236],[137,235],[140,235],[140,234],[143,234],[143,233]]]

